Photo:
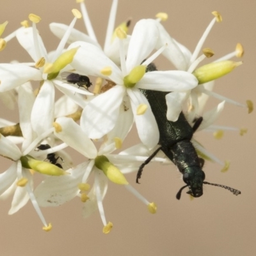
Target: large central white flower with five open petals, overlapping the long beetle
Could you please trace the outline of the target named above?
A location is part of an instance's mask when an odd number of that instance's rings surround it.
[[[140,140],[148,148],[153,148],[159,140],[156,120],[147,99],[138,88],[180,92],[194,88],[197,85],[198,82],[195,76],[188,72],[156,71],[145,74],[145,68],[144,73],[142,71],[141,79],[137,79],[134,84],[127,82],[130,79],[129,75],[133,76],[132,72],[136,73],[134,68],[138,68],[141,62],[148,58],[148,54],[155,48],[157,36],[158,30],[153,20],[140,20],[137,22],[129,42],[126,60],[124,51],[122,51],[122,40],[120,40],[121,69],[105,56],[104,52],[92,44],[76,42],[69,46],[69,48],[80,46],[72,61],[72,67],[78,71],[84,70],[89,75],[113,81],[116,84],[107,92],[95,97],[84,108],[81,127],[90,138],[102,138],[104,134],[113,129],[120,108],[123,108],[124,97],[127,95],[131,102]],[[147,65],[154,60],[163,49],[145,61],[143,65]],[[106,71],[108,69],[109,74]],[[137,72],[137,74],[140,74],[140,72]],[[140,114],[141,106],[145,111]],[[127,111],[131,111],[131,109],[127,109]]]

